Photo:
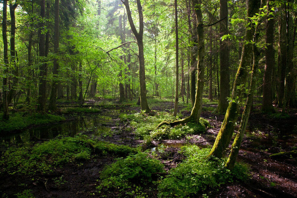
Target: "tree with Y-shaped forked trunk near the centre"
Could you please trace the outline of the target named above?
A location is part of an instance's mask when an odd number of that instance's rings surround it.
[[[121,0],[122,1],[122,0]],[[139,82],[140,82],[140,104],[141,104],[141,110],[144,110],[146,113],[150,112],[149,104],[146,99],[146,76],[145,76],[145,69],[144,69],[144,53],[143,53],[143,13],[142,13],[142,6],[140,3],[140,0],[136,0],[137,8],[138,8],[138,16],[139,16],[139,32],[137,32],[136,27],[134,25],[129,1],[125,0],[122,1],[122,3],[125,5],[127,10],[127,17],[129,20],[129,24],[131,27],[131,30],[137,40],[137,46],[138,46],[138,59],[139,59]]]

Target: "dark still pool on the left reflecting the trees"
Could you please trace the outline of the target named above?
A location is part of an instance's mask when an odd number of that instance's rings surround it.
[[[22,133],[0,137],[0,142],[20,144],[29,141],[48,140],[58,135],[74,137],[78,133],[94,134],[96,136],[112,135],[111,126],[119,120],[120,113],[133,113],[127,110],[107,110],[100,115],[69,116],[70,121],[44,126],[32,127]]]

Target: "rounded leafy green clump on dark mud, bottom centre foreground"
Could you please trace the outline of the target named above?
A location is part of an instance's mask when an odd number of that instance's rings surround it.
[[[127,158],[119,158],[108,165],[100,174],[101,183],[98,190],[118,189],[120,192],[129,192],[129,189],[139,189],[136,184],[147,185],[152,182],[152,174],[164,172],[164,165],[156,159],[151,159],[146,153],[129,155]],[[133,185],[134,184],[134,185]]]

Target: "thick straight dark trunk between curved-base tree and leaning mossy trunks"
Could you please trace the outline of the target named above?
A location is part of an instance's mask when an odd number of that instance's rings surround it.
[[[228,34],[228,1],[220,0],[220,19],[225,18],[219,23],[220,36]],[[220,97],[217,112],[223,114],[228,107],[228,97],[230,96],[230,71],[229,71],[229,44],[228,39],[219,41],[220,45]]]

